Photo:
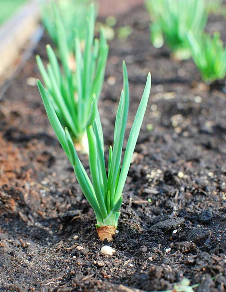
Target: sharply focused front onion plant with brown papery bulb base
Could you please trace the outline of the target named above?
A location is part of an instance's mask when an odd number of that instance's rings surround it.
[[[37,82],[52,128],[65,150],[70,163],[73,165],[76,178],[87,201],[95,212],[98,235],[102,240],[107,238],[109,241],[112,240],[112,236],[115,234],[118,225],[120,216],[119,209],[122,205],[122,190],[129,171],[151,90],[151,74],[149,73],[122,161],[122,145],[129,110],[129,84],[124,62],[122,67],[123,90],[115,120],[114,144],[113,147],[110,146],[109,148],[108,173],[105,170],[103,131],[96,99],[95,97],[93,98],[86,124],[91,180],[78,158],[68,129],[65,128],[65,131],[63,130],[47,91],[45,91],[39,80]]]

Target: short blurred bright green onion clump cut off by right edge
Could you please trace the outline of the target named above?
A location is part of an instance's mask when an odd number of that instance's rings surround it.
[[[212,37],[208,34],[194,36],[190,33],[188,40],[192,58],[202,79],[206,83],[223,79],[226,76],[226,47],[220,33],[215,32]]]

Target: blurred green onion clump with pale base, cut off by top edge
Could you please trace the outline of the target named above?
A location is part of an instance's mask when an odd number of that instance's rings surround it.
[[[187,33],[203,32],[208,18],[205,0],[147,0],[146,7],[153,19],[151,31],[162,33],[176,59],[190,58]]]

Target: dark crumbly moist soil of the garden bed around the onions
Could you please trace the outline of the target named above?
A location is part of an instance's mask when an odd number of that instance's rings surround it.
[[[133,33],[109,43],[99,102],[106,150],[122,60],[131,93],[126,137],[149,71],[153,84],[119,233],[108,243],[116,253],[100,253],[107,242],[97,237],[94,213],[30,78],[40,78],[35,54],[47,62],[45,35],[0,102],[0,291],[161,291],[184,277],[200,284],[198,292],[226,290],[224,80],[210,91],[192,60],[178,62],[166,47],[153,48],[144,8],[121,16],[115,29],[123,25]],[[215,29],[226,38],[225,18],[210,17],[207,30]],[[89,171],[87,156],[80,158]]]

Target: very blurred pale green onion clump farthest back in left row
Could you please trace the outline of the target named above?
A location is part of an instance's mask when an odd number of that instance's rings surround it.
[[[58,43],[57,18],[62,19],[65,30],[67,45],[70,53],[74,52],[75,30],[78,32],[79,39],[84,41],[86,38],[86,21],[91,0],[58,0],[57,2],[45,3],[42,5],[42,22],[52,38]]]

